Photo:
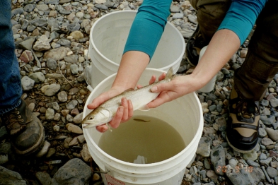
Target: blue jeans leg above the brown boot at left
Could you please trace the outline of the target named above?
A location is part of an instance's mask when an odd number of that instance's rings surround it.
[[[11,0],[0,1],[0,114],[21,103],[21,76],[11,30]]]

